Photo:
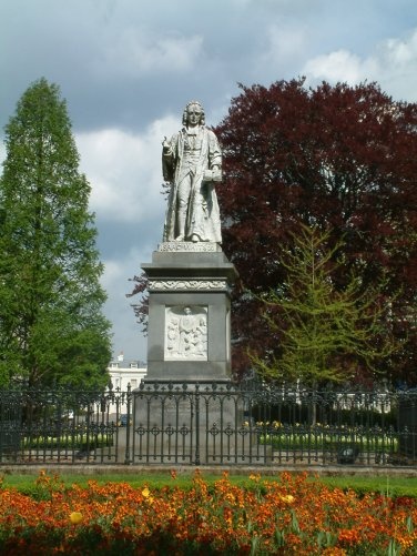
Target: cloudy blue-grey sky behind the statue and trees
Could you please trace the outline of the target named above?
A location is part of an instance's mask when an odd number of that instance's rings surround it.
[[[161,242],[161,141],[189,100],[215,125],[237,83],[299,75],[377,81],[417,102],[416,0],[1,0],[0,160],[3,128],[44,77],[67,99],[92,185],[105,264],[114,355],[146,358],[125,297]]]

